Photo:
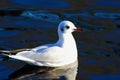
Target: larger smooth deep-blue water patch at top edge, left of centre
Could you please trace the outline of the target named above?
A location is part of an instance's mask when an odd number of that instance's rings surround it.
[[[24,6],[41,6],[50,8],[64,8],[69,7],[69,3],[61,0],[9,0],[14,4]]]

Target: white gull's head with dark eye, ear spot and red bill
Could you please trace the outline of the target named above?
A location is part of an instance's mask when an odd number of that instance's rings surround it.
[[[82,31],[80,28],[76,28],[71,21],[62,21],[58,26],[58,32],[60,33],[72,33],[74,31]]]

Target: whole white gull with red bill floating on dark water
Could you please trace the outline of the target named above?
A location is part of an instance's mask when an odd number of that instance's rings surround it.
[[[60,67],[77,61],[77,47],[72,35],[74,31],[82,31],[68,20],[58,25],[59,39],[53,44],[45,44],[32,49],[1,50],[4,56],[24,61],[28,64],[46,67]]]

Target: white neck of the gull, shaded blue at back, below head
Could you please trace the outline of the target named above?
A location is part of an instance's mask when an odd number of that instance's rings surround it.
[[[61,47],[69,47],[76,45],[72,34],[59,34],[59,40],[56,43]]]

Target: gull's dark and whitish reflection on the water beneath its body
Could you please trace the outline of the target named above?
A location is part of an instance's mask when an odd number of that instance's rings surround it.
[[[58,68],[25,65],[9,75],[9,80],[75,80],[78,62]]]

